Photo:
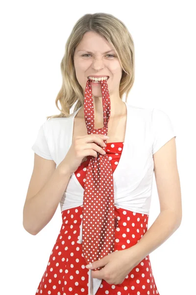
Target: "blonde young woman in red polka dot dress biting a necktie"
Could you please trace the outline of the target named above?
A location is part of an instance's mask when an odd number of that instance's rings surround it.
[[[165,112],[123,102],[134,68],[120,20],[95,13],[77,21],[61,61],[61,113],[47,117],[32,147],[25,230],[38,234],[59,203],[62,212],[37,295],[159,294],[149,253],[182,214],[176,135]],[[160,214],[148,230],[153,172]]]

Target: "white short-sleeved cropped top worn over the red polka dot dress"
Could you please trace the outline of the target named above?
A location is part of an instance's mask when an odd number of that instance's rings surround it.
[[[140,108],[128,105],[125,139],[118,166],[113,173],[114,205],[133,212],[148,214],[151,203],[153,154],[170,139],[176,137],[171,119],[159,109]],[[40,127],[32,149],[39,156],[53,160],[56,167],[63,161],[73,139],[73,119],[51,118]],[[84,189],[74,175],[60,201],[61,211],[83,205]],[[82,243],[82,221],[80,236]],[[91,277],[89,272],[89,294],[95,295],[101,280]]]

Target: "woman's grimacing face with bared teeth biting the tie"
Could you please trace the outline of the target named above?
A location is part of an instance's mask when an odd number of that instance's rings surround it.
[[[73,61],[76,78],[83,93],[88,77],[100,75],[109,76],[107,84],[110,96],[119,97],[122,67],[114,49],[106,39],[93,31],[86,32],[75,49]],[[92,92],[94,96],[101,98],[100,84],[92,84]]]

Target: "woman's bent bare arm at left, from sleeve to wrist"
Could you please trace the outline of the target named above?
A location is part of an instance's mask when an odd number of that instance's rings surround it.
[[[38,234],[53,217],[71,174],[61,164],[35,154],[34,171],[23,210],[23,226],[32,234]]]

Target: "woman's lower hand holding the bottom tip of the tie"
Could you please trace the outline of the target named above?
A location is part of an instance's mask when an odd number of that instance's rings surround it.
[[[103,279],[108,284],[122,284],[127,274],[138,265],[138,261],[134,257],[134,251],[125,249],[112,252],[100,260],[92,263],[94,269],[101,266],[103,268],[91,272],[92,278]]]

